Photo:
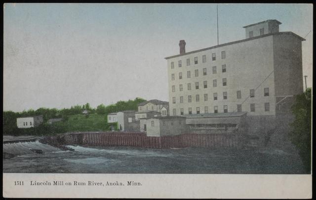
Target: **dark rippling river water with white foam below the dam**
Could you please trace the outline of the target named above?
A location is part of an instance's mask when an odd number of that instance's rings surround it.
[[[3,160],[7,173],[237,173],[300,174],[297,153],[279,149],[214,150],[201,148],[145,149],[132,147],[68,146],[61,151],[39,142],[3,144],[3,151],[44,149],[43,154],[16,153]],[[17,151],[18,152],[18,151]],[[20,154],[20,155],[18,155]]]

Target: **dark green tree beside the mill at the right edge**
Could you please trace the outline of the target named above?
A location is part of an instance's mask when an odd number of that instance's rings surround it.
[[[305,93],[297,95],[291,107],[295,117],[290,124],[289,133],[292,143],[298,148],[306,173],[311,173],[311,126],[312,126],[312,90],[308,88]]]

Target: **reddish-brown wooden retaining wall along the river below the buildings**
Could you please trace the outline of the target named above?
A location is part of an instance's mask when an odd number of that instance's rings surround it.
[[[69,133],[63,135],[65,145],[134,146],[144,148],[240,148],[240,134],[194,134],[150,137],[146,133]]]

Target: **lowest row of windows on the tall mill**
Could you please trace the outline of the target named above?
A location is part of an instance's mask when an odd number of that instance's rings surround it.
[[[270,111],[270,103],[264,103],[265,106],[265,111],[268,112]],[[173,115],[177,115],[177,109],[173,108]],[[236,110],[234,110],[236,111]],[[256,104],[255,103],[250,103],[250,112],[255,112],[256,111]],[[223,112],[228,112],[228,106],[223,105]],[[241,104],[237,104],[237,112],[242,112],[242,106]],[[192,107],[188,108],[188,113],[189,115],[192,114]],[[204,113],[207,114],[208,112],[208,106],[204,107]],[[218,106],[214,106],[214,113],[218,113]],[[200,114],[200,107],[196,107],[196,113],[195,114]],[[180,108],[180,115],[184,115],[184,108]]]

